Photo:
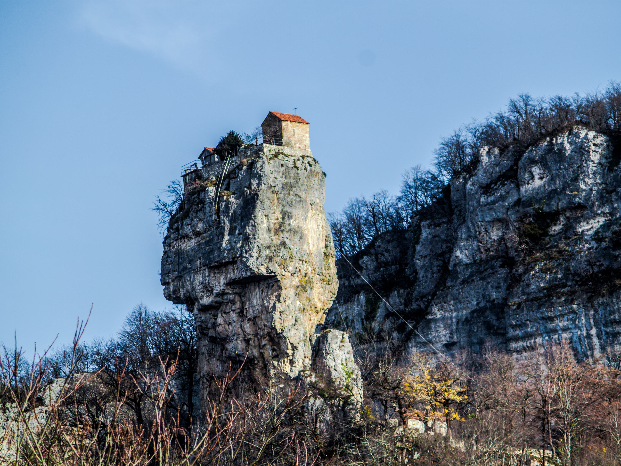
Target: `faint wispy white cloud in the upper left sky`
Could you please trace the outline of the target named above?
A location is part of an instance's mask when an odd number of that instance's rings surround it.
[[[208,5],[193,0],[90,0],[79,12],[81,24],[104,39],[193,71],[206,68],[215,33],[206,17]]]

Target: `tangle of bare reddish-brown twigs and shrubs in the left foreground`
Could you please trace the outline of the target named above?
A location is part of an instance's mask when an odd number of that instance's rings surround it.
[[[84,326],[76,330],[73,351],[65,350],[66,377],[52,384],[47,352],[35,355],[27,378],[20,373],[20,350],[0,361],[8,419],[0,432],[0,464],[255,465],[317,459],[307,446],[311,436],[297,428],[306,427],[306,396],[299,385],[274,382],[235,399],[230,388],[241,368],[229,371],[214,380],[216,396],[188,426],[173,404],[178,360],[160,359],[158,368],[132,372],[127,360],[116,360],[105,375],[78,373],[83,331]],[[140,418],[132,398],[140,399]]]

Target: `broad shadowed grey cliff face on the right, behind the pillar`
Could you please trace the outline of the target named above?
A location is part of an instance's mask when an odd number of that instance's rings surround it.
[[[407,232],[338,261],[329,324],[447,354],[560,339],[581,357],[619,349],[620,149],[581,127],[526,151],[487,148]]]

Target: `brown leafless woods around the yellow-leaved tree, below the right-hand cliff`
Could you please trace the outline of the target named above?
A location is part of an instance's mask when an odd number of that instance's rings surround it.
[[[519,360],[487,347],[459,367],[360,350],[366,411],[343,464],[621,464],[619,367],[578,362],[566,342]],[[412,416],[447,421],[446,436],[401,427]]]

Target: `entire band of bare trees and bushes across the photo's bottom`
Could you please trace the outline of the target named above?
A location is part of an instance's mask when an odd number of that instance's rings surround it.
[[[357,421],[338,403],[317,409],[317,395],[343,396],[320,374],[255,386],[235,368],[191,416],[183,381],[196,374],[196,331],[184,312],[138,306],[115,339],[83,344],[81,328],[72,345],[30,362],[5,348],[0,463],[621,464],[619,357],[579,363],[569,345],[550,344],[519,361],[493,347],[453,362],[406,360],[376,342],[356,354]],[[424,434],[408,427],[422,423]]]

